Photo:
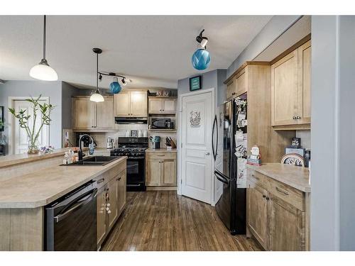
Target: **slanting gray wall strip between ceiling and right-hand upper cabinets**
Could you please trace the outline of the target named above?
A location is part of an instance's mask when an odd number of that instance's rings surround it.
[[[299,18],[300,16],[273,16],[261,32],[253,38],[251,43],[228,67],[226,76],[229,77],[233,74],[244,62],[253,60]]]

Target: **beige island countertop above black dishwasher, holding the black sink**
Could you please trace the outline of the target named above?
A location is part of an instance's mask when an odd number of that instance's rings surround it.
[[[5,180],[0,182],[0,208],[45,206],[126,159],[123,156],[104,166],[58,165]]]

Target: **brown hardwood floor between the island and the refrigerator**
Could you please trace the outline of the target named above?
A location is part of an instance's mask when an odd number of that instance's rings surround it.
[[[102,250],[260,250],[231,235],[214,207],[174,191],[127,192],[126,211]]]

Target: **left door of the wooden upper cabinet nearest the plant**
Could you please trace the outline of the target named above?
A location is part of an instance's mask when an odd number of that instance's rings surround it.
[[[73,129],[93,129],[96,126],[96,103],[89,98],[74,98],[72,105]]]

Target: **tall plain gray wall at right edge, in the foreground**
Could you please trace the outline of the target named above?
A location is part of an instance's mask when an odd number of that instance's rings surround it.
[[[355,250],[354,16],[312,16],[311,250]]]

